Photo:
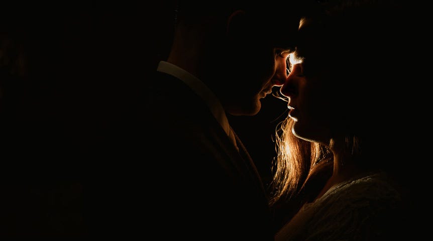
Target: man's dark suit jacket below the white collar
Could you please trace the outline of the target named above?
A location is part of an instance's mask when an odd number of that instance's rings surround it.
[[[154,175],[143,190],[152,231],[164,240],[273,240],[263,184],[239,138],[238,152],[181,80],[157,72],[152,81],[142,110],[150,145],[140,149]]]

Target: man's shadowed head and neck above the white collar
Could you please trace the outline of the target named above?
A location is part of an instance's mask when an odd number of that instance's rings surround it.
[[[287,77],[291,33],[302,1],[180,0],[168,61],[203,81],[233,115],[254,115]]]

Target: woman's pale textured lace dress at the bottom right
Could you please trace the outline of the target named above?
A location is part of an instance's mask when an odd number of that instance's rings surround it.
[[[392,240],[390,235],[396,235],[401,224],[400,201],[383,173],[352,179],[302,206],[276,234],[276,241]]]

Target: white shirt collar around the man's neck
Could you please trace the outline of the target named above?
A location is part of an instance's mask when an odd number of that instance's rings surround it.
[[[178,79],[181,79],[183,82],[185,82],[185,84],[187,84],[196,94],[198,94],[198,96],[204,100],[213,116],[215,116],[227,135],[232,139],[234,138],[223,105],[217,96],[215,96],[215,94],[201,80],[182,68],[166,61],[160,61],[157,70],[173,75],[174,77],[177,77]],[[236,141],[233,141],[236,145]]]

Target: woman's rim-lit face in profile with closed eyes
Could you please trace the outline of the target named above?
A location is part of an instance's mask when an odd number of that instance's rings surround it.
[[[292,133],[329,145],[343,124],[341,89],[336,84],[339,63],[327,62],[326,56],[318,57],[316,44],[307,41],[302,49],[290,54],[291,71],[280,92],[288,97],[289,116],[294,121]],[[323,55],[324,51],[320,52]]]

